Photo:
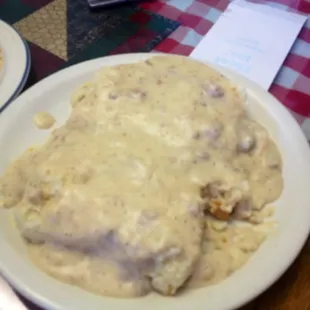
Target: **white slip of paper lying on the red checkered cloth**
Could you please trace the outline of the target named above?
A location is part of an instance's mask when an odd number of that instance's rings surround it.
[[[236,0],[191,53],[268,89],[307,17]]]

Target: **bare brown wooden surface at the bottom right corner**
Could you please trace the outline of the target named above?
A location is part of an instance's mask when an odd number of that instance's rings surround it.
[[[310,239],[283,277],[240,310],[310,310]]]

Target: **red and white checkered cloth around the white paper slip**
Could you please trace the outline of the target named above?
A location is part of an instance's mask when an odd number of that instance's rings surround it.
[[[161,0],[143,3],[145,9],[181,23],[155,51],[188,56],[228,4],[228,0]],[[268,5],[310,14],[310,1],[307,0],[274,0],[268,1]],[[292,112],[310,140],[310,19],[300,32],[270,92]]]

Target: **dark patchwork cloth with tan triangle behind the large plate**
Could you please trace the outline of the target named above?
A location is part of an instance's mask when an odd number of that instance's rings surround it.
[[[134,3],[92,12],[86,0],[0,0],[0,19],[30,47],[27,87],[82,61],[149,52],[179,26]]]

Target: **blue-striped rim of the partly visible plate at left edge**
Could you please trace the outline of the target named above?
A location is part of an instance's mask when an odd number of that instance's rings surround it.
[[[26,42],[26,40],[22,37],[22,35],[9,23],[7,23],[6,21],[4,21],[3,19],[0,19],[0,22],[4,23],[6,26],[8,26],[13,32],[15,32],[15,34],[20,38],[20,40],[23,43],[24,46],[24,51],[26,54],[26,64],[25,64],[25,69],[23,72],[23,75],[21,76],[21,79],[19,81],[19,83],[17,84],[15,90],[13,91],[13,93],[11,94],[11,96],[0,105],[0,113],[4,111],[5,108],[7,108],[7,106],[21,93],[21,91],[23,90],[28,77],[29,77],[29,73],[30,73],[30,69],[31,69],[31,53],[30,53],[30,48]],[[4,73],[5,74],[5,73]]]

